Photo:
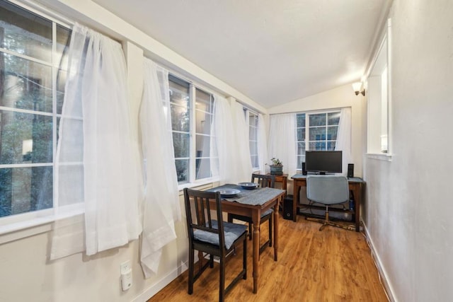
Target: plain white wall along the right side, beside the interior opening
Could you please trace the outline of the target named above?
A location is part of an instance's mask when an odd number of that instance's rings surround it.
[[[453,301],[453,2],[390,17],[394,154],[365,157],[362,219],[395,301]]]

